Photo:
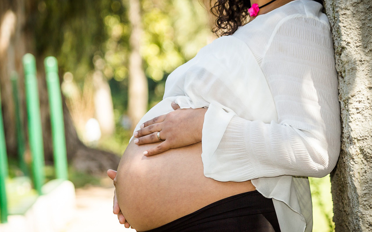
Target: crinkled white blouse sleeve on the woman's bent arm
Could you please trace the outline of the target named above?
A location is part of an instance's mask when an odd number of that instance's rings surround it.
[[[219,181],[325,176],[335,166],[340,151],[337,75],[329,25],[312,17],[283,19],[263,52],[260,67],[278,120],[251,120],[239,108],[230,117],[223,101],[209,108],[212,110],[205,115],[202,135],[204,174]],[[231,74],[224,73],[227,79]],[[203,86],[210,87],[208,83]],[[213,95],[231,97],[225,91]],[[263,97],[258,94],[253,99],[262,102]],[[232,101],[241,104],[239,99]],[[224,134],[219,137],[214,127]],[[213,139],[215,143],[210,143]]]

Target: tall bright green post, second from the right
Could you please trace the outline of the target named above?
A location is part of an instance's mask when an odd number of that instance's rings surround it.
[[[33,181],[36,191],[39,195],[42,195],[41,187],[45,182],[45,161],[38,82],[36,79],[36,62],[35,57],[32,54],[28,53],[23,56],[23,69],[25,71],[28,133],[32,156]]]

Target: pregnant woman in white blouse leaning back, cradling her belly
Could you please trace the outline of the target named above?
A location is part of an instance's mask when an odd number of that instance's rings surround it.
[[[168,76],[163,101],[108,171],[114,213],[137,231],[312,231],[307,177],[330,173],[340,151],[322,4],[219,0],[212,9],[225,35]]]

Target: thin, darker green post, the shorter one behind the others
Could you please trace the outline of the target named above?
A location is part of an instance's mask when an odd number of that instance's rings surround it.
[[[13,100],[16,108],[16,130],[17,130],[17,146],[18,146],[18,159],[19,168],[24,175],[28,174],[27,166],[25,163],[25,135],[23,134],[23,125],[20,117],[19,95],[18,95],[18,75],[12,72],[10,77],[13,87]]]

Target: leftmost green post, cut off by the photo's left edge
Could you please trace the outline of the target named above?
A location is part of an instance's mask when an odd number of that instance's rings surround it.
[[[1,94],[0,94],[1,95]],[[0,96],[0,213],[1,223],[8,220],[8,205],[5,190],[5,181],[8,178],[8,158],[6,154],[3,114],[1,112]]]

